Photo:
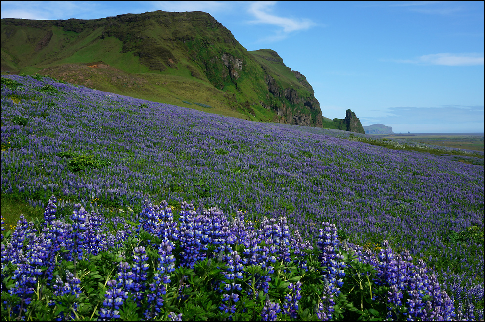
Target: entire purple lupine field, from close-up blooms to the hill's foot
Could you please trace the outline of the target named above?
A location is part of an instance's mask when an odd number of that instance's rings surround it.
[[[483,165],[1,83],[2,320],[483,320]]]

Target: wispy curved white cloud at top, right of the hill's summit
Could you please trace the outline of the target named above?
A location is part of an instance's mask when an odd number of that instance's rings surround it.
[[[255,18],[255,20],[251,20],[249,21],[249,23],[275,25],[281,27],[282,32],[284,33],[290,33],[297,30],[305,30],[316,25],[310,19],[296,20],[271,14],[271,8],[275,4],[276,1],[258,1],[251,3],[247,11]]]

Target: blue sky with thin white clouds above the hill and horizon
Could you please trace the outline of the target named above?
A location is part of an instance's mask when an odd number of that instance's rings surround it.
[[[394,132],[484,132],[483,1],[1,1],[1,18],[204,11],[301,72],[322,113]]]

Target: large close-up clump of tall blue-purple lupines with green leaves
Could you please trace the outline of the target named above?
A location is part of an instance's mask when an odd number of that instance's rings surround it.
[[[22,217],[1,242],[2,320],[473,320],[422,260],[341,244],[323,222],[318,247],[291,236],[286,218],[246,226],[215,208],[146,200],[135,231],[106,234],[103,216],[74,206],[57,220]],[[2,220],[3,222],[3,220]],[[3,235],[2,235],[3,237]],[[175,312],[174,312],[175,311]]]

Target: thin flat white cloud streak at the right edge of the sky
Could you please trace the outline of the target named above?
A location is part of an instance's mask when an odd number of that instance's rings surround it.
[[[417,65],[444,65],[444,66],[476,66],[484,65],[483,53],[439,53],[424,55],[417,59],[394,60],[399,63],[409,63]]]

